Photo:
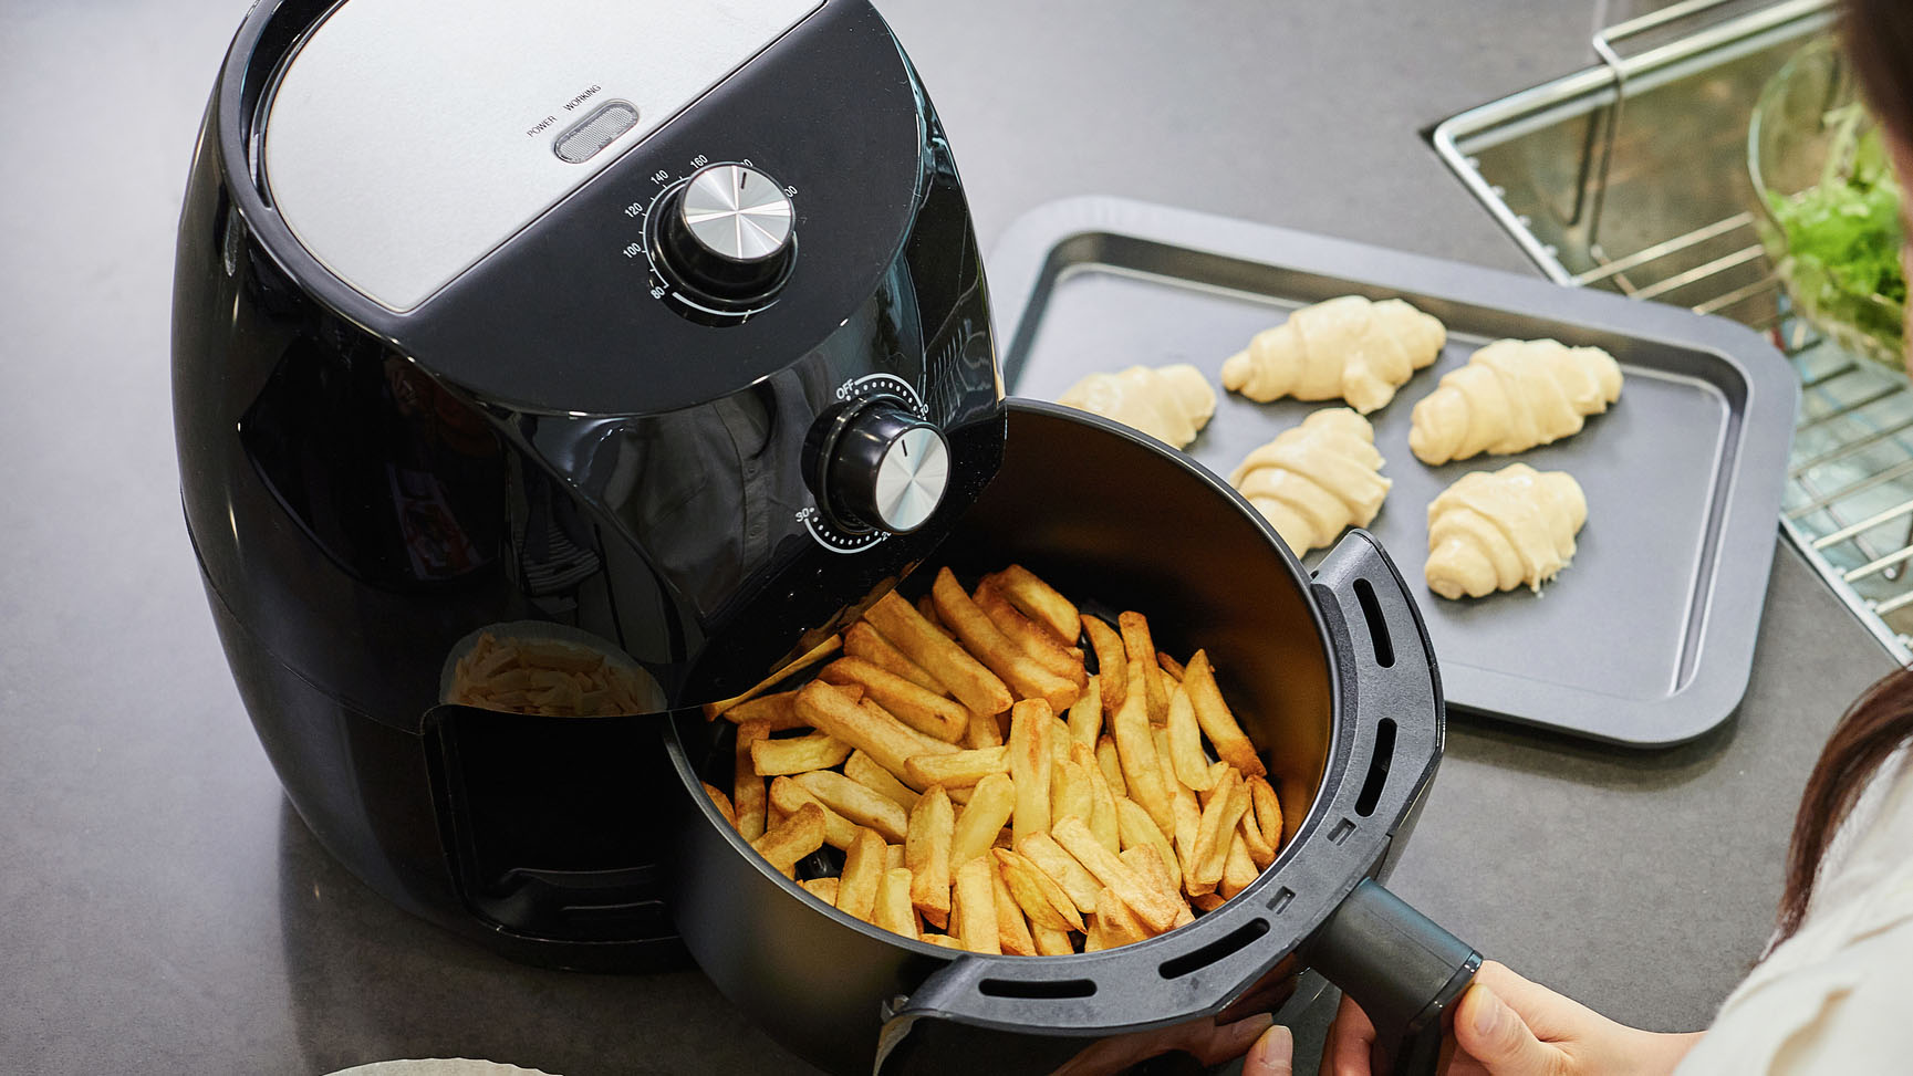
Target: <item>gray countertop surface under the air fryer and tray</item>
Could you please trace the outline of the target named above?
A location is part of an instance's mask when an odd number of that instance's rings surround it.
[[[1418,130],[1580,67],[1594,4],[882,10],[985,248],[1113,193],[1525,269]],[[241,15],[0,6],[0,1070],[802,1070],[700,975],[534,971],[407,917],[285,807],[199,589],[168,403],[174,222]],[[1735,721],[1622,753],[1456,719],[1393,887],[1620,1021],[1703,1026],[1766,938],[1827,728],[1888,667],[1781,547]]]

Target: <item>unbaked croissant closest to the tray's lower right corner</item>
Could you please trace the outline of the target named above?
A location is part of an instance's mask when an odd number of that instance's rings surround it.
[[[1574,558],[1588,499],[1565,470],[1525,463],[1475,470],[1429,505],[1429,591],[1481,598],[1527,583],[1536,592]]]

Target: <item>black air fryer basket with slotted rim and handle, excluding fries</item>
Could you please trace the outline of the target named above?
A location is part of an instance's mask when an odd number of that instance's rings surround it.
[[[1213,1019],[1301,954],[1402,1034],[1408,1049],[1396,1059],[1391,1042],[1385,1063],[1431,1066],[1439,1017],[1479,958],[1366,881],[1412,824],[1442,736],[1427,635],[1379,545],[1351,533],[1310,581],[1215,474],[1111,422],[1014,399],[1002,470],[932,566],[972,581],[1010,562],[1087,610],[1144,612],[1171,654],[1211,654],[1282,799],[1276,864],[1134,946],[955,954],[771,870],[698,787],[729,785],[729,722],[683,715],[670,743],[691,793],[673,906],[704,971],[836,1072],[1050,1072],[1110,1036]],[[914,596],[926,575],[901,591]]]

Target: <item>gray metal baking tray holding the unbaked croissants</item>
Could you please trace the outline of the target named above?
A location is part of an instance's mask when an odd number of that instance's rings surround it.
[[[1762,336],[1718,317],[1475,266],[1121,199],[1016,222],[989,262],[1008,392],[1054,399],[1079,377],[1194,363],[1217,413],[1186,449],[1226,476],[1316,407],[1220,390],[1222,359],[1297,306],[1402,296],[1448,327],[1437,363],[1368,419],[1395,482],[1368,527],[1410,579],[1427,505],[1469,470],[1567,470],[1588,495],[1574,564],[1527,589],[1448,602],[1423,591],[1448,705],[1632,747],[1693,740],[1747,692],[1773,564],[1798,386]],[[1517,457],[1423,466],[1408,417],[1488,340],[1607,348],[1620,403]],[[1142,497],[1148,493],[1142,491]],[[1312,566],[1324,550],[1305,564]]]

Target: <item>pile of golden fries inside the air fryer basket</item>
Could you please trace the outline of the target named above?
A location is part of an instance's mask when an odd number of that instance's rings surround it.
[[[737,722],[737,766],[729,795],[704,789],[765,860],[796,879],[840,849],[838,877],[798,885],[945,948],[1140,942],[1242,893],[1282,847],[1276,789],[1207,654],[1182,665],[1142,613],[1110,627],[1014,564],[976,591],[943,568],[918,606],[886,594],[706,711]]]

